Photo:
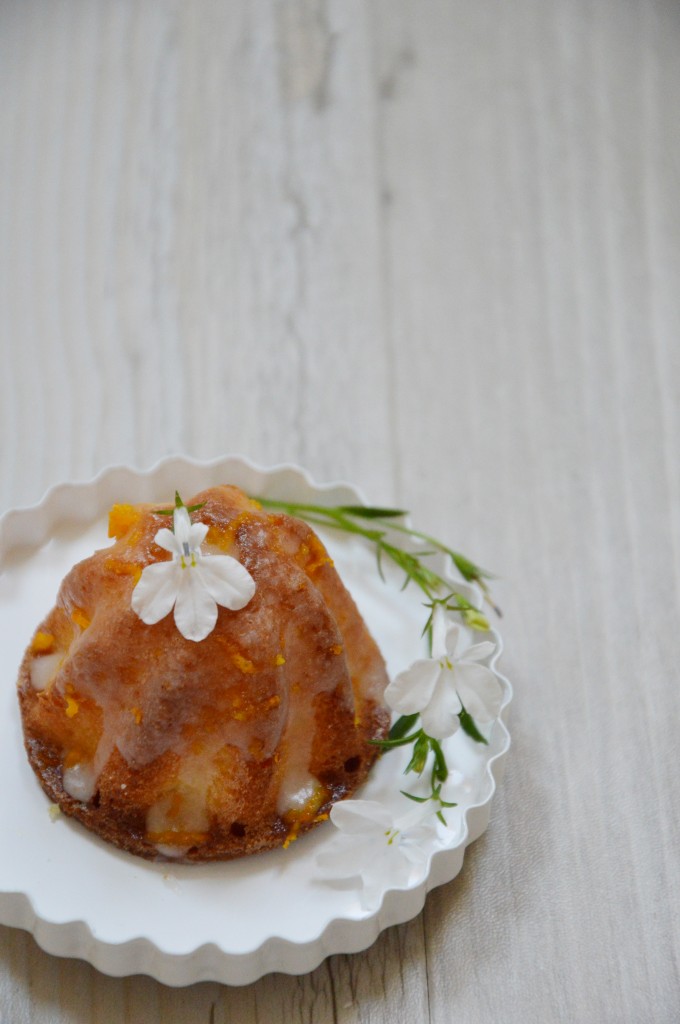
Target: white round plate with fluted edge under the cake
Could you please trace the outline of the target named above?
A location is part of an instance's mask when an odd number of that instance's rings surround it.
[[[380,894],[367,909],[359,883],[325,883],[315,857],[335,837],[329,822],[288,850],[207,865],[154,864],[119,852],[77,822],[52,820],[25,756],[14,682],[36,625],[79,559],[111,543],[107,512],[115,502],[169,501],[236,483],[252,495],[357,504],[346,483],[318,485],[294,466],[263,469],[228,457],[210,463],[171,458],[147,472],[104,470],[87,483],[52,488],[29,509],[0,520],[0,637],[5,682],[0,710],[0,922],[32,932],[49,952],[79,956],[115,976],[148,974],[169,985],[213,980],[247,984],[281,971],[303,974],[326,956],[365,949],[390,925],[409,921],[426,893],[460,870],[465,847],[488,822],[490,804],[509,736],[495,724],[487,746],[453,737],[456,799],[450,827],[432,843],[426,870],[406,889]],[[390,675],[422,655],[422,595],[383,583],[364,542],[322,532],[336,565],[378,641]],[[474,592],[460,585],[466,594]],[[500,638],[492,668],[500,653]],[[510,685],[502,676],[504,709]],[[381,759],[362,796],[385,803],[403,786],[400,752]]]

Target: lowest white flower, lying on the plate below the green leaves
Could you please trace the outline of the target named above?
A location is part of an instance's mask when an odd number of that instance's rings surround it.
[[[385,889],[406,888],[414,871],[424,877],[436,820],[418,806],[398,817],[374,800],[343,800],[331,810],[340,835],[316,863],[327,879],[360,877],[370,903]]]

